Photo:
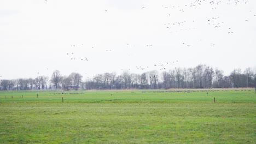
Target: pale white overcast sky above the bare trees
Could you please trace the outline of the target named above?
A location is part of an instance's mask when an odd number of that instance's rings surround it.
[[[1,0],[0,75],[256,68],[255,15],[254,0]]]

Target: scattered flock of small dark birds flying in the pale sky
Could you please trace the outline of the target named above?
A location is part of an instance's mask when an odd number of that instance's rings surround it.
[[[45,2],[48,2],[48,0],[44,0]],[[192,1],[191,3],[189,4],[184,4],[184,5],[161,5],[162,8],[164,9],[174,9],[174,10],[177,10],[181,13],[184,13],[188,8],[193,8],[193,7],[200,7],[201,5],[203,4],[210,4],[212,7],[211,9],[212,10],[215,10],[218,8],[218,5],[222,4],[222,3],[225,3],[225,4],[228,4],[228,5],[231,5],[231,4],[234,4],[234,5],[238,5],[238,4],[247,4],[247,0],[222,0],[222,1],[207,1],[207,0],[194,0]],[[148,7],[141,7],[142,10],[144,9],[148,9]],[[103,10],[104,12],[108,13],[109,10]],[[250,11],[252,12],[252,11]],[[171,14],[167,13],[167,16],[170,16]],[[253,16],[256,16],[255,14]],[[248,21],[248,20],[246,20]],[[167,23],[164,23],[164,26],[167,28],[167,29],[171,29],[172,27],[174,26],[178,26],[178,27],[182,27],[185,23],[187,23],[188,21],[184,20],[184,21],[177,21],[177,22],[167,22]],[[195,22],[194,20],[191,21],[191,22]],[[213,28],[219,28],[219,27],[222,27],[224,25],[224,21],[220,21],[220,17],[217,16],[217,17],[210,17],[208,20],[205,20],[205,22],[208,24],[208,26],[212,26]],[[174,32],[179,32],[179,31],[190,31],[190,30],[194,30],[196,28],[179,28],[177,31],[169,31],[169,33],[174,33]],[[226,33],[228,34],[232,34],[234,33],[233,29],[231,27],[228,27],[226,29]],[[201,41],[201,39],[200,39]],[[125,44],[127,46],[129,46],[130,44]],[[191,46],[189,43],[185,43],[183,42],[182,45],[184,46]],[[211,46],[214,46],[215,44],[214,43],[211,43],[210,44]],[[149,46],[153,46],[152,44],[148,44],[146,45],[147,47]],[[72,48],[75,48],[77,47],[76,45],[71,45]],[[95,47],[91,47],[91,49],[94,49]],[[106,52],[112,52],[112,50],[109,50],[109,49],[106,49],[104,50]],[[74,52],[67,52],[66,53],[67,57],[71,60],[71,61],[89,61],[89,58],[85,58],[85,57],[75,57],[75,53]],[[92,59],[91,59],[92,60]],[[161,64],[152,64],[151,66],[152,67],[158,67],[159,70],[168,70],[170,69],[170,65],[171,64],[174,64],[174,63],[178,63],[179,61],[176,60],[176,61],[171,61],[171,62],[165,62],[165,63],[161,63]],[[151,68],[152,68],[151,67]],[[149,66],[136,66],[135,69],[138,69],[138,70],[147,70],[150,68],[150,65]],[[173,68],[177,68],[177,67],[173,67]],[[123,69],[121,69],[123,70]],[[130,70],[130,69],[129,69]]]

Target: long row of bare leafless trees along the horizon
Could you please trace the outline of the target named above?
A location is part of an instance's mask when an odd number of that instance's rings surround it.
[[[159,73],[156,70],[142,74],[123,71],[98,74],[82,81],[79,73],[62,76],[55,70],[50,79],[38,76],[35,79],[1,80],[1,91],[20,91],[33,89],[169,89],[169,88],[238,88],[256,87],[256,71],[247,68],[245,71],[234,69],[225,76],[224,71],[207,65],[195,68],[175,68]]]

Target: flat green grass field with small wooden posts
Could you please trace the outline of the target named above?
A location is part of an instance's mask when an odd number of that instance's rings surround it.
[[[255,143],[255,108],[248,89],[3,91],[0,143]]]

